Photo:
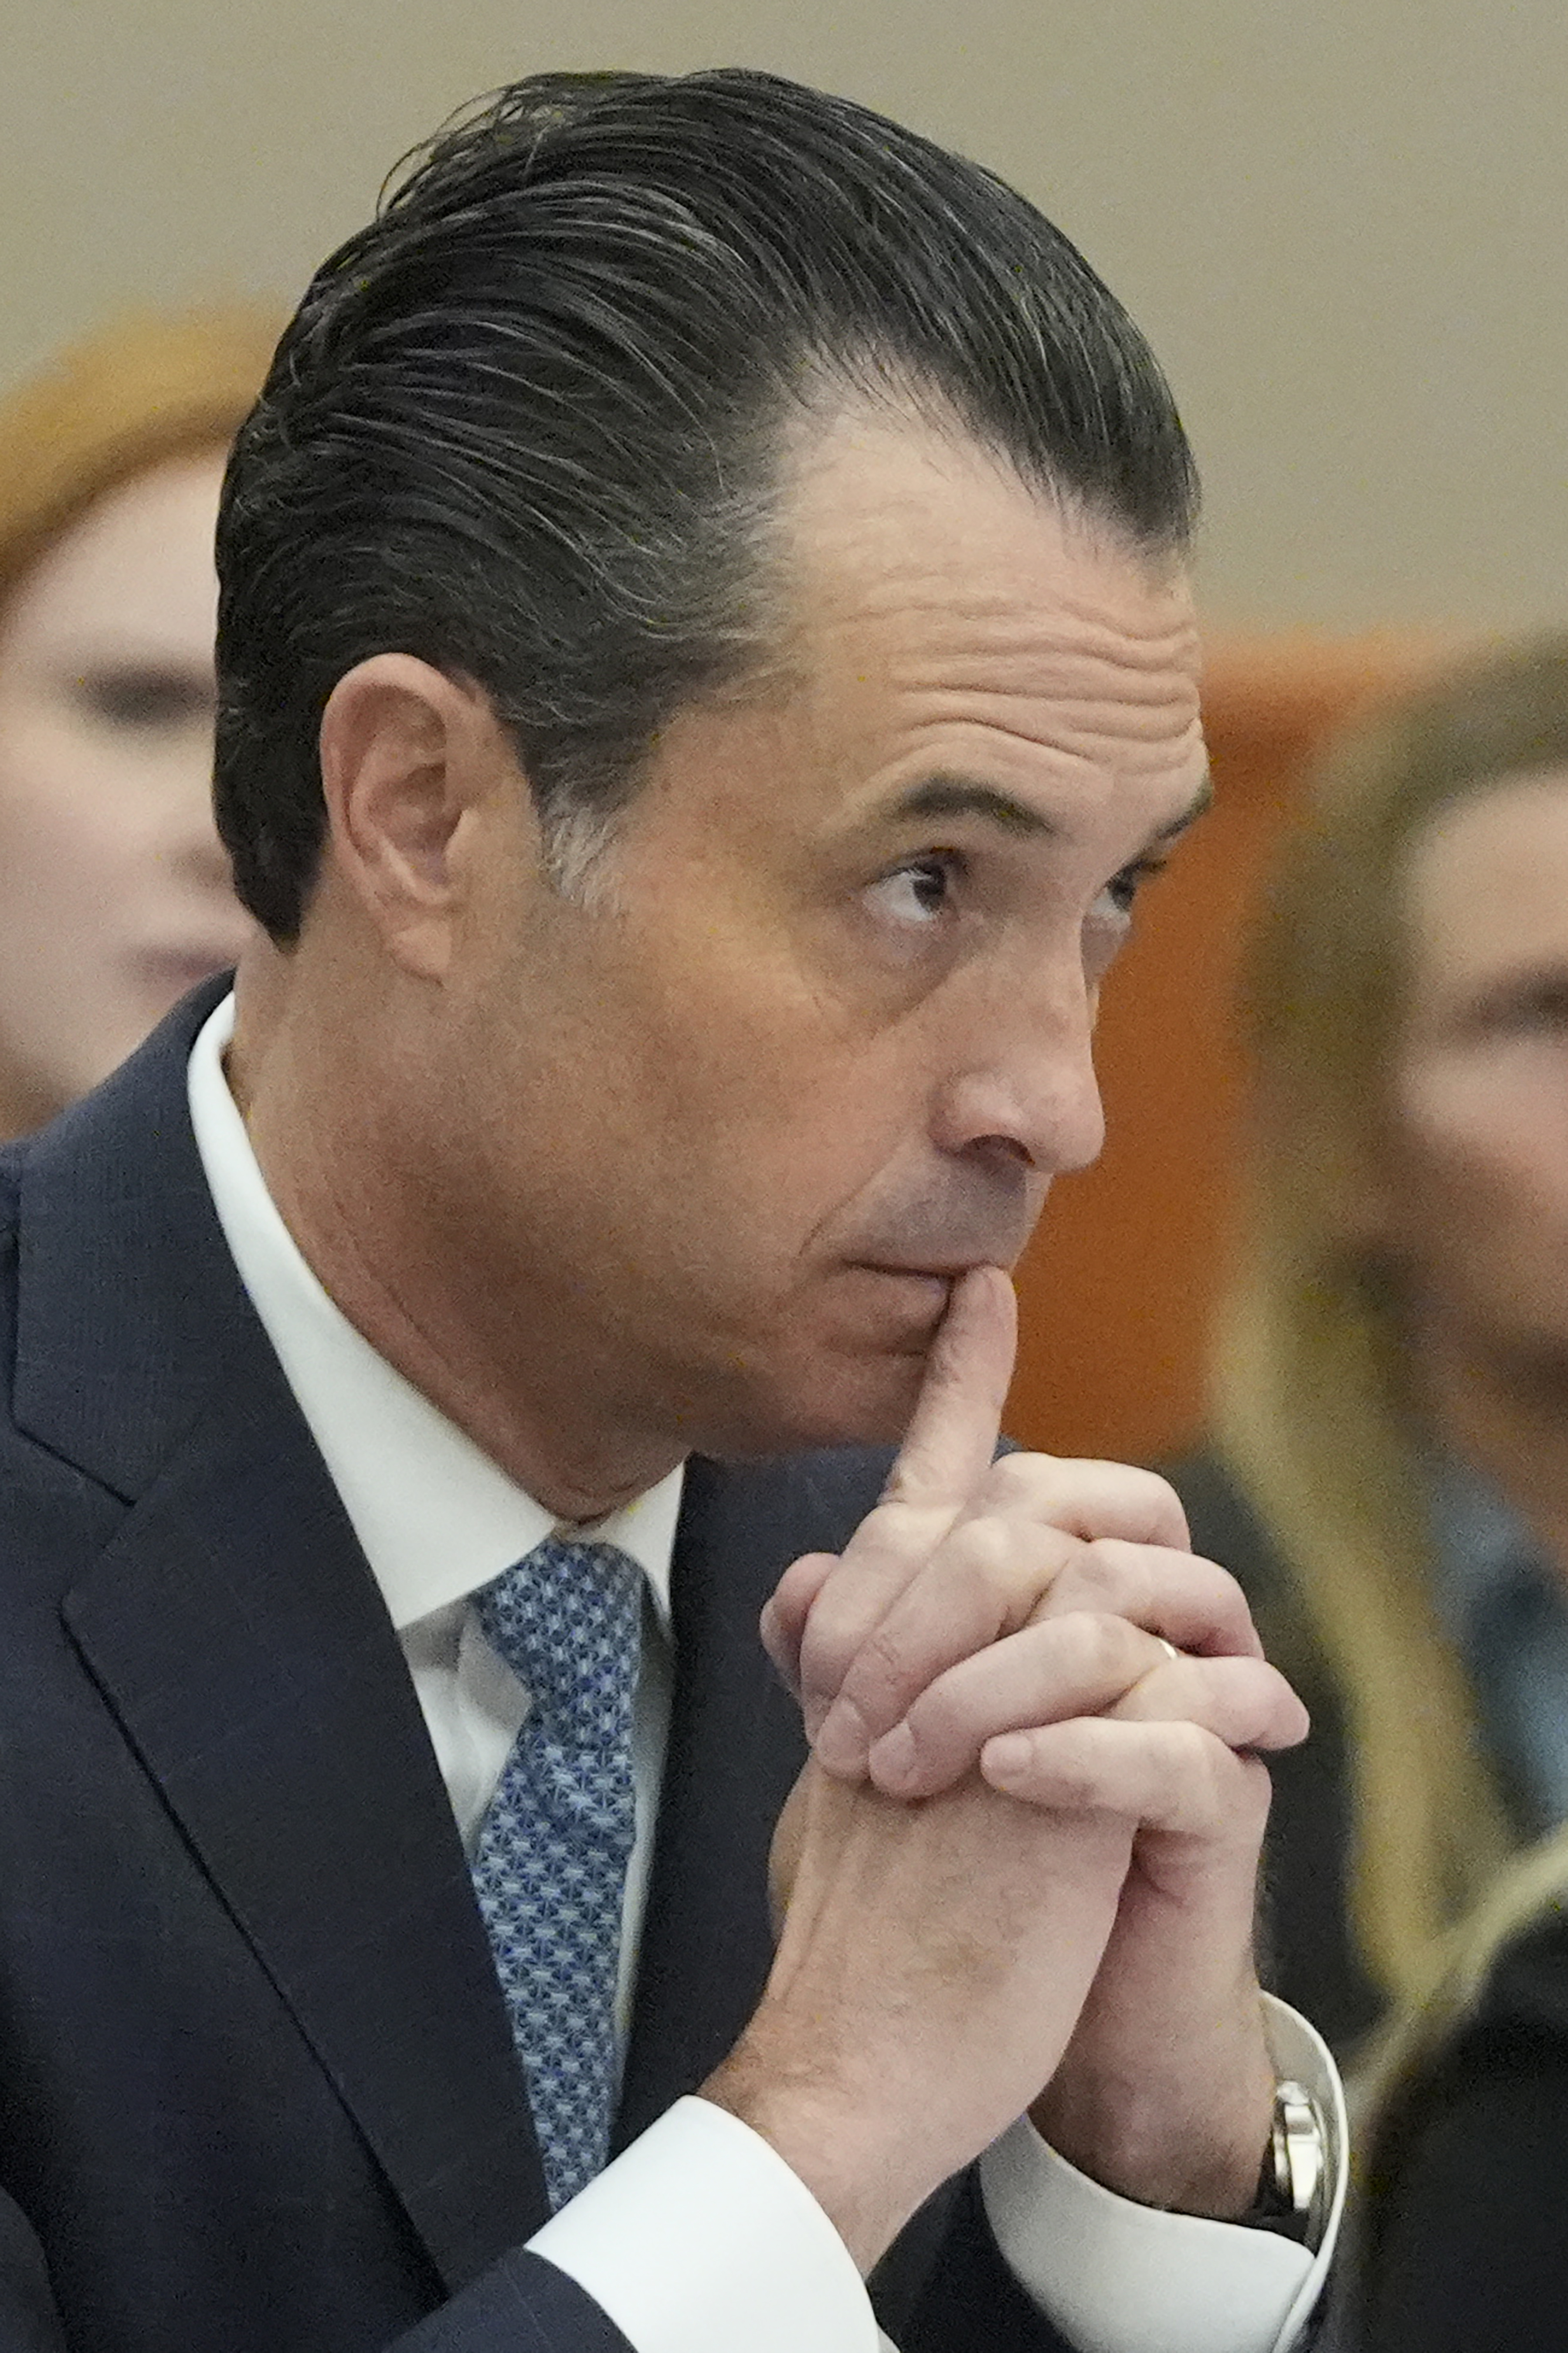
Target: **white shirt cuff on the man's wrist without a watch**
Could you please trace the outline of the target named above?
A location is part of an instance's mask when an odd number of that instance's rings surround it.
[[[800,2177],[678,2099],[530,2240],[636,2353],[878,2353],[859,2271]]]

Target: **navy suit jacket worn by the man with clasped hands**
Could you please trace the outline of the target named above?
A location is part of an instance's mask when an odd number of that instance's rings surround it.
[[[0,2353],[626,2353],[523,2252],[544,2181],[452,1809],[195,1155],[214,998],[0,1153]],[[803,1746],[756,1619],[883,1471],[690,1466],[622,2141],[760,1993]],[[876,2292],[906,2353],[1059,2344],[968,2177]]]

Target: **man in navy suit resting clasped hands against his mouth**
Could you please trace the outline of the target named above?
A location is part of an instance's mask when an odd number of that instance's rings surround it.
[[[1071,247],[765,78],[520,85],[318,275],[266,936],[5,1162],[5,2353],[1297,2334],[1300,1708],[1158,1480],[994,1461],[1189,520]]]

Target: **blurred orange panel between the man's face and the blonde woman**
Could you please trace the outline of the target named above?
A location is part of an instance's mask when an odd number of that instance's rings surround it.
[[[1241,965],[1274,845],[1335,727],[1453,638],[1229,638],[1205,654],[1215,807],[1137,927],[1099,1016],[1107,1148],[1064,1176],[1019,1266],[1008,1431],[1158,1461],[1203,1424],[1203,1348],[1245,1120]]]

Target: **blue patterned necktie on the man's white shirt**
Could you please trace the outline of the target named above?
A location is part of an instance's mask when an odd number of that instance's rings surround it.
[[[476,1605],[527,1718],[480,1824],[473,1892],[560,2207],[610,2155],[643,1572],[612,1544],[549,1537]]]

